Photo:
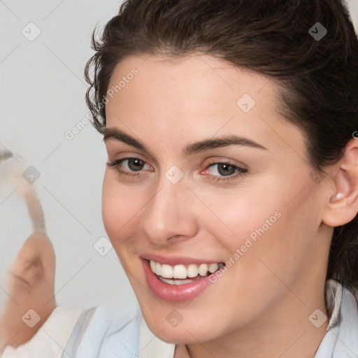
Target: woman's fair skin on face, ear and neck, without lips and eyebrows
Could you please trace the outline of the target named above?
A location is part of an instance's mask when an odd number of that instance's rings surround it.
[[[109,88],[133,68],[138,75],[108,96],[106,128],[147,150],[106,138],[109,162],[143,162],[107,166],[102,209],[148,327],[163,341],[186,344],[192,358],[313,357],[329,319],[317,328],[308,317],[317,308],[328,315],[333,227],[357,213],[358,141],[350,141],[325,180],[313,180],[305,136],[275,111],[278,87],[269,78],[210,55],[147,54],[117,64]],[[248,113],[236,104],[243,94],[256,102]],[[183,152],[232,134],[265,149]],[[211,165],[222,162],[231,164],[226,172]],[[176,184],[165,176],[173,165],[184,174]],[[166,302],[150,292],[141,253],[226,262],[275,212],[280,218],[192,301]],[[166,320],[173,309],[183,317],[177,327]]]

